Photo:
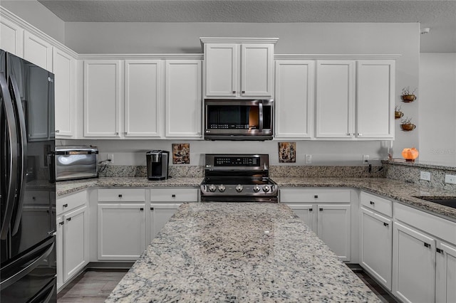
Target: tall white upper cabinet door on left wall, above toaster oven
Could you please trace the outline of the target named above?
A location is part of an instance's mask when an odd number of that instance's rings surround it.
[[[57,138],[74,136],[76,122],[76,59],[58,48],[53,48],[55,90],[55,129]]]

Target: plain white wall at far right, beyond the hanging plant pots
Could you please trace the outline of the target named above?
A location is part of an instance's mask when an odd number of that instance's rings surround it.
[[[420,161],[456,166],[456,53],[420,54]]]

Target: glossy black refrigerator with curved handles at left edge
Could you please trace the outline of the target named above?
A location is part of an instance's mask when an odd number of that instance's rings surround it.
[[[0,302],[56,302],[54,75],[0,50]]]

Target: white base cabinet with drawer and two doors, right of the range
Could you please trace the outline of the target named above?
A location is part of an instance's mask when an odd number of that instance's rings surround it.
[[[280,200],[293,209],[341,260],[351,260],[350,190],[283,188]]]

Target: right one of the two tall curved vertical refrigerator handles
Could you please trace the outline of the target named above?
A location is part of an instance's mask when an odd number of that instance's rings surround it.
[[[26,155],[27,155],[27,130],[26,130],[26,118],[24,115],[24,109],[22,108],[21,95],[19,94],[19,87],[17,86],[16,79],[14,77],[9,77],[11,84],[12,99],[14,99],[16,105],[17,118],[19,119],[19,165],[18,167],[19,174],[19,194],[16,198],[17,208],[16,208],[16,218],[14,221],[11,221],[13,224],[13,229],[11,231],[12,235],[16,235],[19,230],[19,223],[21,223],[22,208],[24,206],[24,192],[26,189]]]

